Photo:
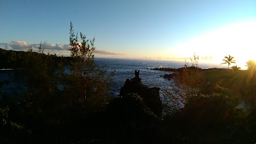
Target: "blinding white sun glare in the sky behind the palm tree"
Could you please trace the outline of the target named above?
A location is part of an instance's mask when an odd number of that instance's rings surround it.
[[[222,63],[225,56],[234,56],[236,64],[246,69],[246,61],[256,60],[256,20],[240,22],[211,31],[177,45],[172,52],[180,57],[198,54],[201,60]]]

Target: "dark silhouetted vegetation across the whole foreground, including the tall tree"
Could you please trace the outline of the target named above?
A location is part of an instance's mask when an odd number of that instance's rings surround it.
[[[113,73],[95,65],[93,40],[70,23],[70,58],[0,49],[1,68],[19,99],[0,99],[0,143],[255,143],[253,61],[248,70],[198,68],[198,57],[175,70],[171,97],[184,108],[155,115],[138,93],[109,97]],[[229,65],[228,65],[229,68]],[[137,77],[138,78],[138,77]],[[8,81],[1,81],[1,85]],[[145,95],[144,95],[145,97]],[[237,108],[241,103],[243,109]],[[166,107],[163,107],[166,108]]]

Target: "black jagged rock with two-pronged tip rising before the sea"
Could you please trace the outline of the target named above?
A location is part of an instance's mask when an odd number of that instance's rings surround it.
[[[135,70],[135,77],[126,79],[124,86],[120,90],[120,96],[125,97],[127,93],[137,93],[143,99],[143,102],[150,108],[156,115],[161,116],[162,102],[159,96],[160,88],[148,88],[139,77],[140,70]]]

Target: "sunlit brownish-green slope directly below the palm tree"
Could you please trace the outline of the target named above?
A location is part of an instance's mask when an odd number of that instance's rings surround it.
[[[255,77],[250,77],[247,70],[233,70],[209,68],[200,70],[200,81],[216,83],[236,93],[236,97],[247,100],[248,103],[256,102]]]

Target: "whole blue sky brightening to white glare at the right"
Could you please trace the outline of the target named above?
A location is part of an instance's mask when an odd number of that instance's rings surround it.
[[[0,0],[0,47],[70,56],[70,21],[98,57],[256,60],[255,0]]]

